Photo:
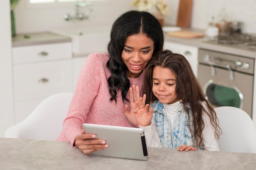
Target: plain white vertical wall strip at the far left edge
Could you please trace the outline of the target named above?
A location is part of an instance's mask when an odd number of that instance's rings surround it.
[[[9,0],[0,2],[0,137],[13,124],[13,92],[11,72],[11,24]]]

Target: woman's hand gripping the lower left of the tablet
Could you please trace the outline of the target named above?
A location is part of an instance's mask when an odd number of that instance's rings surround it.
[[[88,155],[97,150],[104,150],[108,148],[105,140],[95,139],[94,134],[85,134],[84,130],[81,131],[82,134],[75,136],[74,146],[79,148],[84,154]]]

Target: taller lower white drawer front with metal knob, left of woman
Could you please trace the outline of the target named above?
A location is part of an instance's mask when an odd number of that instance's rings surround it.
[[[13,66],[14,100],[72,92],[72,59]]]

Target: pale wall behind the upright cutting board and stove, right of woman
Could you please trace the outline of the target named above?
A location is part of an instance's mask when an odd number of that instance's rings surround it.
[[[166,23],[175,24],[179,0],[169,0],[171,15]],[[218,18],[221,9],[225,9],[227,20],[243,22],[243,33],[256,34],[256,0],[193,0],[191,28],[205,29],[214,16]]]

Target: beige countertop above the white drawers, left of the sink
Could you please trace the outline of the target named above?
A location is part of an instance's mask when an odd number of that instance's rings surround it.
[[[71,42],[71,38],[63,35],[57,35],[54,33],[29,33],[29,34],[18,34],[16,37],[12,37],[12,46],[29,46],[38,44],[51,44]]]

